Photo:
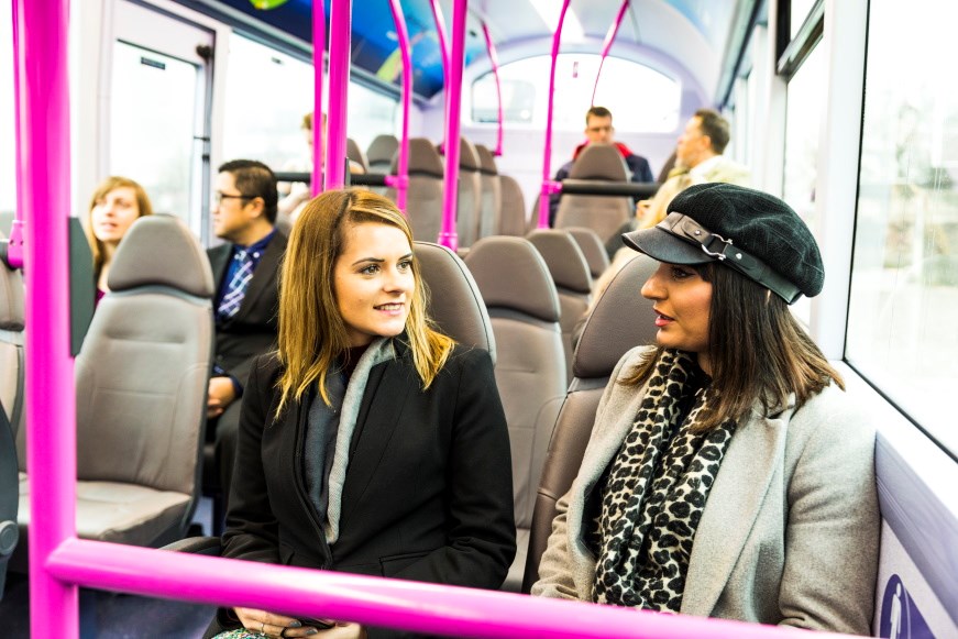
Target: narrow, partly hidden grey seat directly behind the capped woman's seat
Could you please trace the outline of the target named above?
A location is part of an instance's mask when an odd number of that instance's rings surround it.
[[[592,275],[585,255],[568,231],[536,229],[526,236],[546,261],[559,291],[566,378],[572,378],[572,333],[592,299]]]

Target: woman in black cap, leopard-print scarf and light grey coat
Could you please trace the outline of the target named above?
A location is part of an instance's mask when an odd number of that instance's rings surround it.
[[[807,227],[707,184],[623,239],[661,262],[658,348],[616,366],[532,594],[869,634],[874,431],[789,311],[824,284]]]

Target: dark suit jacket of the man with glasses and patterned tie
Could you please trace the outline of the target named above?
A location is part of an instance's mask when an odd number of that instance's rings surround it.
[[[279,262],[286,241],[286,235],[277,231],[253,272],[240,310],[224,322],[217,321],[216,363],[240,384],[246,383],[253,359],[273,349],[276,341]],[[228,242],[207,251],[217,291],[223,286],[232,249]]]

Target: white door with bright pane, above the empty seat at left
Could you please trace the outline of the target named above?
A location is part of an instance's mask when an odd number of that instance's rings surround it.
[[[183,218],[203,242],[210,200],[211,57],[214,33],[144,4],[113,13],[106,173],[139,181],[153,210]]]

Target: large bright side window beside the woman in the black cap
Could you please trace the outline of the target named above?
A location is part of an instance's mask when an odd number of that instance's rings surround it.
[[[934,15],[934,20],[928,20]],[[958,4],[873,1],[846,359],[958,452]]]

